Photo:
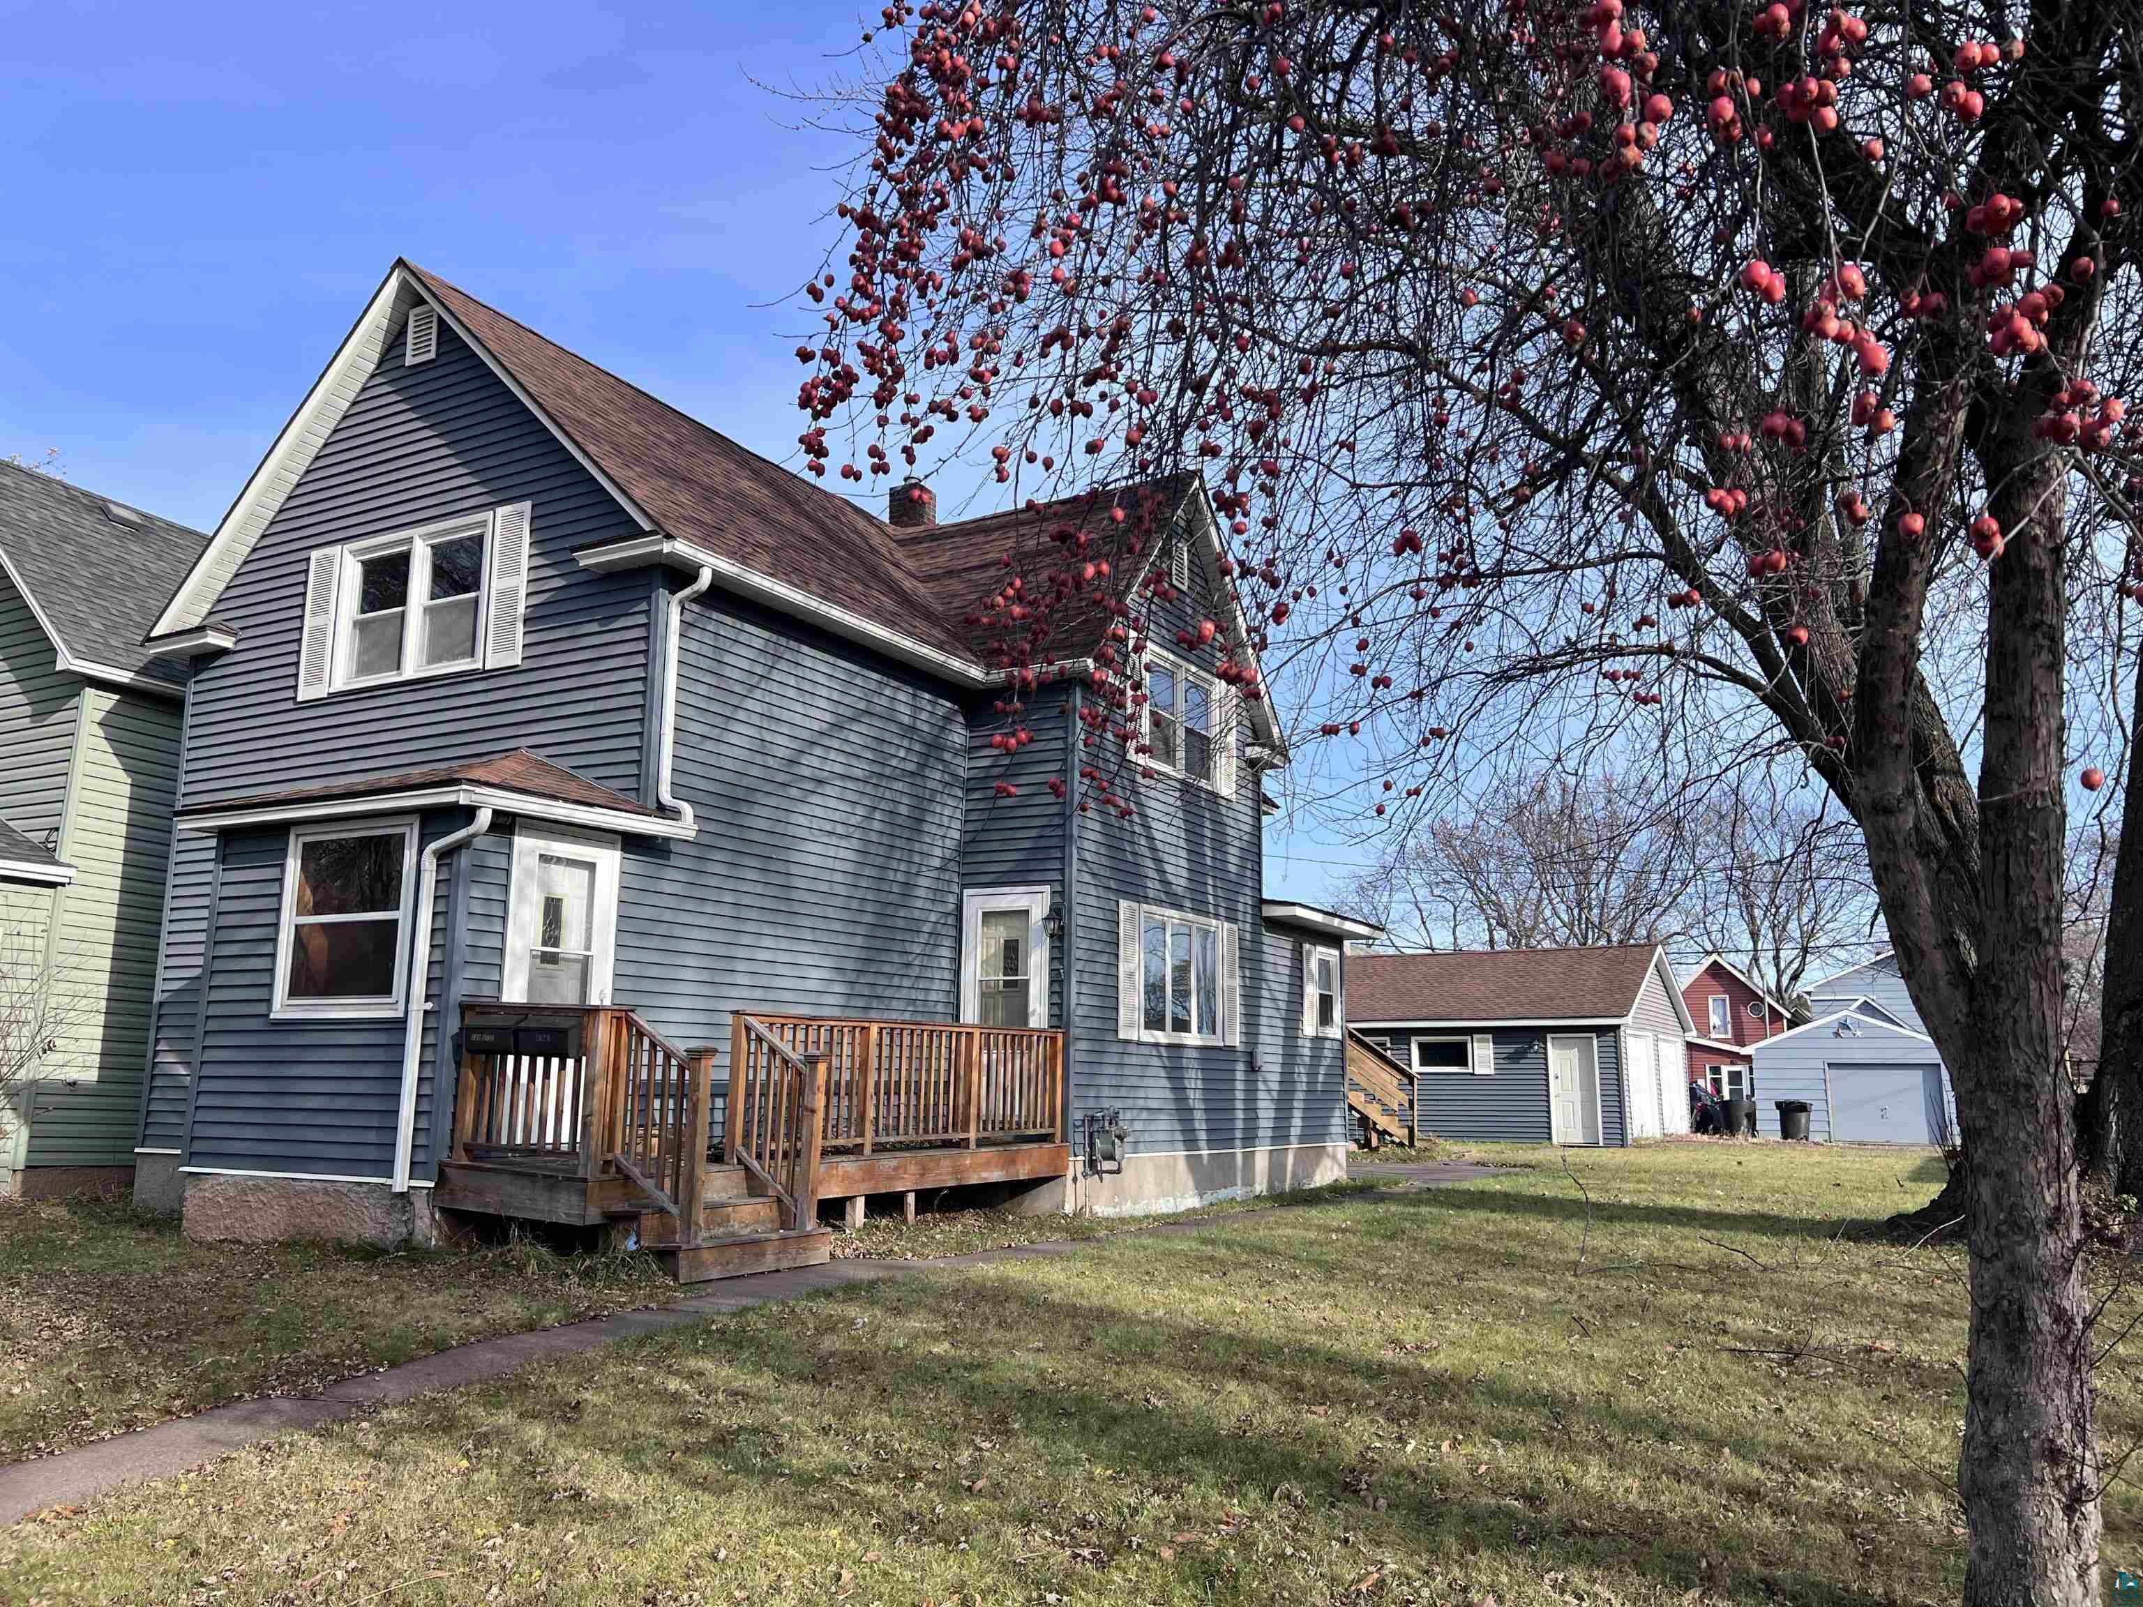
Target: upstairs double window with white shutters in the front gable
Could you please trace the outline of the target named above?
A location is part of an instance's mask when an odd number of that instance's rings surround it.
[[[311,555],[298,696],[521,662],[529,506]]]

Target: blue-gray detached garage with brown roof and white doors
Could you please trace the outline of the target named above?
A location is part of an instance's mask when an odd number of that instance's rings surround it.
[[[1357,953],[1348,986],[1354,1033],[1412,1073],[1417,1131],[1614,1146],[1689,1131],[1695,1024],[1657,943]]]

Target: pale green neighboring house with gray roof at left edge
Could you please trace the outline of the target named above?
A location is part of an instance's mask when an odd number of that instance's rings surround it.
[[[0,1196],[135,1166],[199,531],[0,463]]]

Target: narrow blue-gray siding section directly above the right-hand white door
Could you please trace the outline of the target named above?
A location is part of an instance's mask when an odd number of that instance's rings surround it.
[[[1044,688],[1018,707],[999,707],[1009,694],[973,699],[966,705],[966,806],[960,823],[960,887],[1048,887],[1050,911],[1063,913],[1065,891],[1065,799],[1050,782],[1067,778],[1072,692]],[[1007,752],[992,737],[1026,731],[1033,739]],[[1072,776],[1078,761],[1072,761]],[[1014,791],[999,793],[999,784]],[[1065,964],[1050,949],[1048,1024],[1063,1026]]]

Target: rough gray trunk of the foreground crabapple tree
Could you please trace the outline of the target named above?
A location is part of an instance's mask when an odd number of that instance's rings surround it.
[[[2062,1065],[2066,504],[2059,467],[2034,461],[2029,422],[2006,422],[2012,429],[1982,446],[1999,486],[1991,512],[2010,531],[1989,583],[1982,923],[1965,1041],[1942,1043],[1972,1146],[1965,1603],[2096,1607],[2083,1187]]]

